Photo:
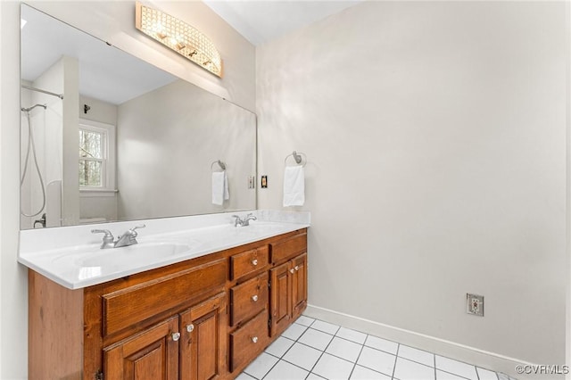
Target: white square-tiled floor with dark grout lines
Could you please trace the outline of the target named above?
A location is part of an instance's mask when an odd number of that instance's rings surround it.
[[[237,380],[513,380],[432,352],[298,318]]]

